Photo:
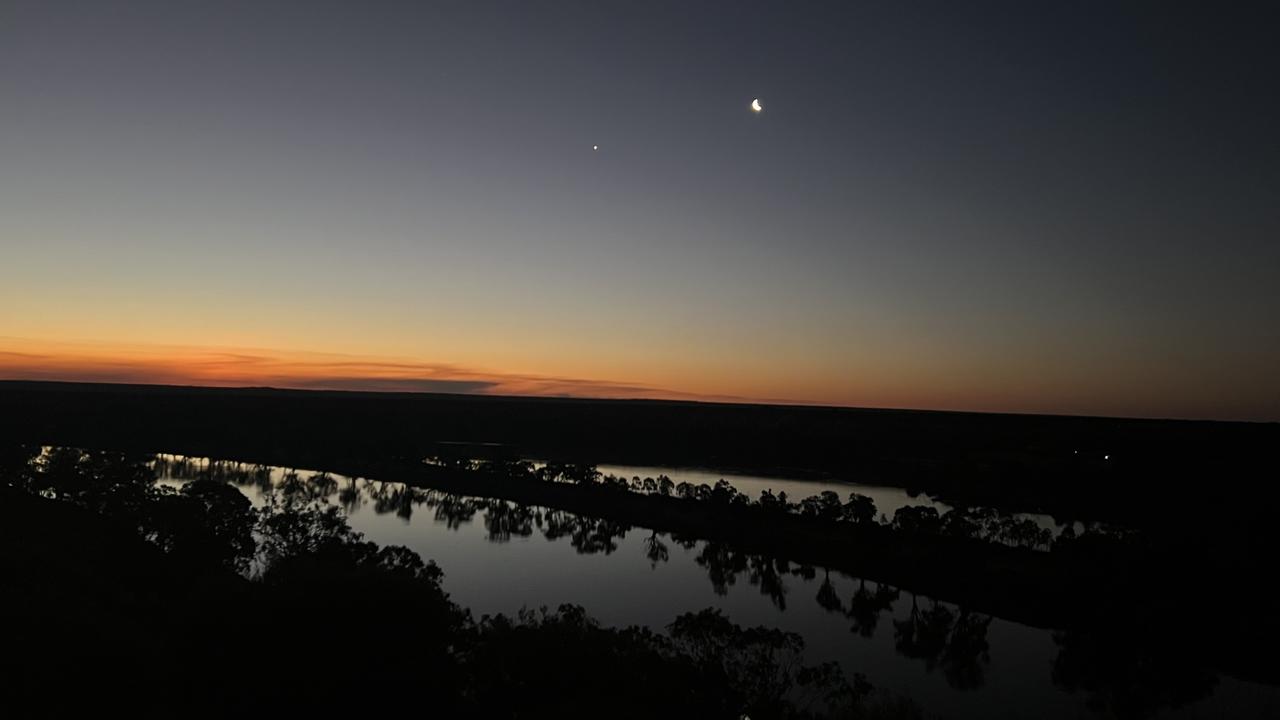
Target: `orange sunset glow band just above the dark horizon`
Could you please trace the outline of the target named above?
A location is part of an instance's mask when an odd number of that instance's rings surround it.
[[[694,357],[692,360],[698,360]],[[582,398],[686,400],[1147,418],[1270,420],[1275,409],[1235,406],[1212,395],[1167,405],[1158,387],[1117,375],[1110,397],[1055,387],[1042,375],[989,369],[937,369],[869,361],[840,365],[800,356],[790,363],[716,363],[678,368],[639,364],[584,366],[581,374],[493,369],[394,355],[355,355],[241,346],[68,342],[0,336],[0,380],[275,387],[364,392],[438,392]],[[1207,388],[1206,392],[1211,392]],[[1162,409],[1164,411],[1158,410]]]

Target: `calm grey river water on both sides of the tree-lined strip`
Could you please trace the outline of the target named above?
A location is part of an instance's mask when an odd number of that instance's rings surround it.
[[[161,456],[157,462],[160,482],[172,484],[209,469],[205,460],[175,456]],[[676,479],[671,470],[600,469],[626,477],[663,471]],[[214,464],[214,470],[232,470],[228,475],[255,505],[262,505],[271,484],[285,475],[279,468],[260,468],[253,480],[251,466],[234,464]],[[722,475],[707,477],[714,483]],[[707,482],[698,471],[685,471],[677,482],[695,479]],[[797,498],[833,489],[824,483],[776,478],[730,479],[756,496],[765,487],[786,489]],[[927,597],[913,598],[909,592],[893,598],[892,588],[840,573],[740,556],[705,542],[686,541],[686,547],[643,528],[616,528],[572,514],[398,483],[332,474],[311,482],[324,488],[328,502],[346,507],[351,525],[367,539],[403,544],[435,560],[444,569],[445,591],[477,616],[576,603],[605,625],[660,629],[682,612],[714,606],[741,625],[796,632],[805,638],[812,661],[837,660],[846,671],[863,673],[874,685],[906,694],[945,717],[1097,717],[1088,708],[1088,693],[1070,693],[1055,684],[1059,644],[1047,630],[966,614]],[[849,488],[840,484],[837,492],[845,495]],[[893,488],[877,492],[877,506],[890,514],[893,502],[924,500]],[[557,534],[562,537],[549,539]],[[654,541],[666,548],[666,559]],[[854,611],[859,588],[864,607],[877,605],[879,591],[881,612]],[[945,630],[947,650],[931,655],[913,650],[909,642],[904,647],[909,633],[902,628],[910,628],[913,618],[920,623],[950,619],[945,623],[950,628]],[[1276,717],[1280,691],[1219,678],[1212,696],[1161,716]]]

